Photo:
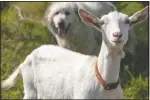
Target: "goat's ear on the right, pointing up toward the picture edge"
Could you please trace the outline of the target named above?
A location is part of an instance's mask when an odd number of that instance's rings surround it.
[[[145,7],[144,9],[136,12],[132,16],[129,17],[129,22],[131,26],[138,24],[139,22],[143,22],[148,18],[148,9],[149,7]]]

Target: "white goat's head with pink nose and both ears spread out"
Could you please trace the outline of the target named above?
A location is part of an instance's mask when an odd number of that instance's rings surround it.
[[[78,13],[84,23],[102,31],[103,40],[107,46],[111,48],[123,48],[128,40],[129,29],[147,19],[148,8],[145,7],[130,17],[117,11],[103,15],[100,19],[83,9],[79,9]]]

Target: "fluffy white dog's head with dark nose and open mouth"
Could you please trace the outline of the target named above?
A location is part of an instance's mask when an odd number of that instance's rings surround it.
[[[75,7],[71,3],[54,3],[50,8],[48,19],[53,24],[54,33],[64,36],[68,33],[72,23],[76,20]]]

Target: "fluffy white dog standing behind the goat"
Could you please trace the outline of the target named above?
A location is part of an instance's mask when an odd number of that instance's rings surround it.
[[[116,10],[110,2],[54,2],[47,9],[45,19],[49,30],[59,46],[88,55],[98,55],[101,34],[79,18],[79,8],[86,9],[96,16]],[[125,51],[131,51],[135,38],[129,34]]]

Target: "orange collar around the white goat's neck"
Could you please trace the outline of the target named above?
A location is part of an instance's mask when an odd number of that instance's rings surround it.
[[[101,84],[105,90],[111,90],[111,89],[116,89],[118,84],[119,84],[119,79],[116,83],[110,83],[110,84],[106,84],[106,82],[103,80],[102,76],[100,75],[99,71],[98,71],[98,65],[97,63],[95,64],[95,74],[96,74],[96,78],[98,80],[98,83]]]

